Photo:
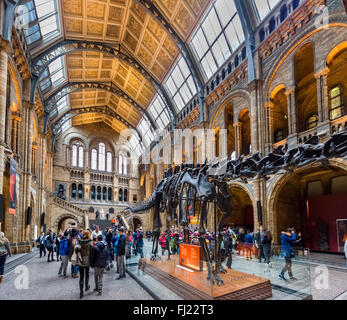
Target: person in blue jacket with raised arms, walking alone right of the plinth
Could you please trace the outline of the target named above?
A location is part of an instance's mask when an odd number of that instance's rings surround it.
[[[283,267],[282,272],[279,274],[279,277],[283,280],[287,280],[284,277],[284,274],[287,271],[288,271],[290,280],[296,280],[296,278],[293,277],[293,272],[292,272],[292,258],[294,258],[293,246],[295,245],[295,242],[296,242],[296,233],[294,229],[288,228],[287,232],[282,232],[281,256],[284,257],[286,264]]]

